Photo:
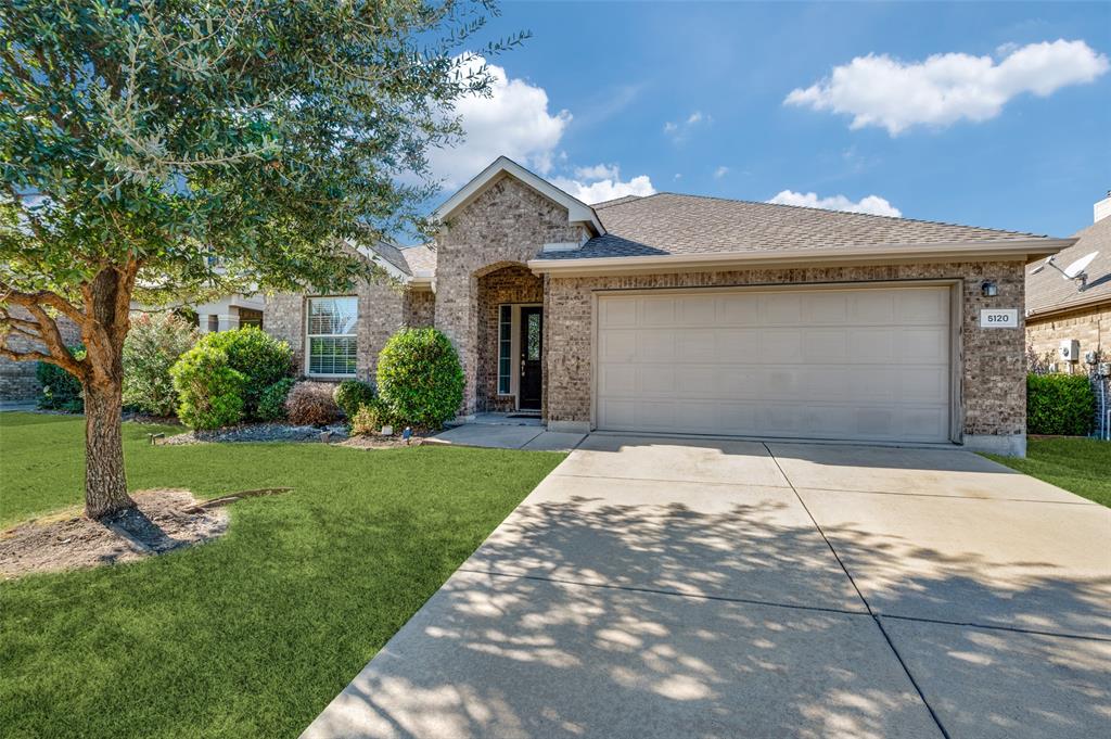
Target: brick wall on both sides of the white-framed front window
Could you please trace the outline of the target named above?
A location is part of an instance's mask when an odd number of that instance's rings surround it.
[[[337,293],[338,294],[338,293]],[[359,356],[356,371],[362,380],[373,380],[378,353],[386,340],[406,324],[404,291],[388,281],[363,281],[353,293],[359,299],[357,336]],[[304,331],[307,294],[277,294],[267,299],[264,330],[289,341],[298,375],[306,373]]]

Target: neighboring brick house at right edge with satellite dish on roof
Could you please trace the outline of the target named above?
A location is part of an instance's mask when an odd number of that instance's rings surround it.
[[[1111,361],[1111,192],[1095,203],[1095,222],[1073,234],[1077,242],[1061,251],[1054,262],[1062,269],[1084,254],[1099,254],[1084,270],[1083,290],[1055,269],[1027,274],[1027,342],[1039,357],[1052,354],[1064,372],[1087,372],[1084,354],[1102,352]],[[1079,342],[1078,361],[1060,356],[1062,341]]]

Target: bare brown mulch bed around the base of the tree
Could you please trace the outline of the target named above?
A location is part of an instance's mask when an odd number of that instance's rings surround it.
[[[136,508],[103,521],[31,520],[0,533],[0,577],[128,562],[201,543],[228,529],[228,512],[188,490],[132,493]]]

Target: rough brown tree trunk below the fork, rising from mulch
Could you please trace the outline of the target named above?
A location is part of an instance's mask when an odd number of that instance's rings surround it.
[[[84,385],[84,515],[99,519],[134,506],[123,469],[123,387]]]

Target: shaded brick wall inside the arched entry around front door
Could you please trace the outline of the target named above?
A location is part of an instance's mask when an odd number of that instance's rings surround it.
[[[502,303],[540,303],[544,283],[527,267],[513,264],[479,278],[478,367],[476,407],[479,411],[517,410],[512,395],[498,395],[498,310]]]

